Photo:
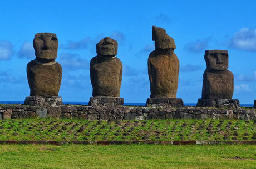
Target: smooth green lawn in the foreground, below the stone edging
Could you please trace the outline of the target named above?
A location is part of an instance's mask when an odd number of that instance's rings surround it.
[[[252,145],[0,145],[0,168],[256,168]]]

